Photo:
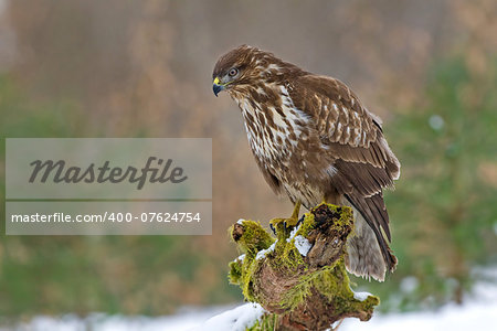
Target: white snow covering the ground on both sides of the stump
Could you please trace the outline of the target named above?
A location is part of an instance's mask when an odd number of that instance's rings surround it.
[[[239,307],[183,309],[176,316],[160,318],[107,317],[86,319],[65,316],[60,319],[36,317],[29,323],[0,327],[0,331],[237,331],[244,330],[262,309],[252,303]],[[340,331],[390,330],[497,330],[497,286],[480,284],[463,306],[447,305],[437,311],[376,314],[369,322],[346,320]]]

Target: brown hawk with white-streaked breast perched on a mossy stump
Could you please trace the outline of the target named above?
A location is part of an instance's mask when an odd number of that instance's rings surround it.
[[[242,45],[221,56],[213,90],[237,103],[252,152],[264,179],[295,204],[322,201],[353,209],[346,267],[384,280],[396,258],[389,247],[383,189],[400,175],[379,117],[342,82],[306,72],[257,47]]]

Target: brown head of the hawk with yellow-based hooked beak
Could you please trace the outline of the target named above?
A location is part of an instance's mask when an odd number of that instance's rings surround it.
[[[272,53],[257,47],[242,45],[222,55],[212,73],[215,96],[224,89],[243,93],[247,87],[256,88],[264,83],[276,82],[288,71],[298,70]]]

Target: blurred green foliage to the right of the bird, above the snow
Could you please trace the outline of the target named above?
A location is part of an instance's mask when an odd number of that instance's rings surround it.
[[[399,268],[388,286],[367,284],[383,309],[462,302],[477,266],[497,261],[497,191],[482,172],[497,162],[497,60],[485,79],[462,56],[430,70],[426,99],[399,113],[387,135],[402,160],[387,195]]]

